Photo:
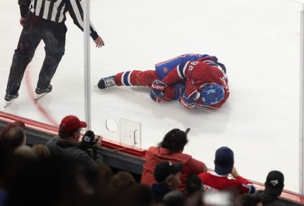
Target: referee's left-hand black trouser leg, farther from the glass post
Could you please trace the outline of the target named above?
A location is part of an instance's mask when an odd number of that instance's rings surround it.
[[[12,66],[10,67],[10,75],[8,77],[8,85],[6,93],[15,95],[21,85],[25,69],[35,54],[35,50],[41,41],[38,28],[31,23],[28,17],[25,27],[21,32],[17,49],[12,58]]]

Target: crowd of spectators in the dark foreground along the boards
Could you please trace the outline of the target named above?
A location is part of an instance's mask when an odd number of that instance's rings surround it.
[[[147,150],[138,182],[131,173],[114,172],[103,163],[102,137],[81,138],[86,126],[68,115],[58,136],[30,147],[23,122],[6,125],[0,133],[0,206],[286,205],[279,198],[283,174],[270,171],[265,190],[257,190],[238,173],[227,146],[215,151],[214,170],[207,171],[203,161],[183,153],[188,133],[170,130]]]

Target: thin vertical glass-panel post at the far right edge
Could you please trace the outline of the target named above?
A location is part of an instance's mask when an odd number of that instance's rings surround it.
[[[301,51],[300,51],[300,138],[299,138],[299,193],[304,196],[304,10],[301,12]]]

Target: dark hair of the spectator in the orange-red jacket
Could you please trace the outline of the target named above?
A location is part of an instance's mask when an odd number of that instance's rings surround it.
[[[170,150],[170,153],[179,152],[183,150],[183,147],[188,143],[187,134],[175,128],[170,130],[162,139],[162,142],[158,145],[162,148]]]

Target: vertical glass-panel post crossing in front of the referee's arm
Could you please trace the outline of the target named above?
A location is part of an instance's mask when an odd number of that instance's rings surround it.
[[[90,90],[90,0],[84,2],[84,104],[88,130],[91,129],[91,90]]]

